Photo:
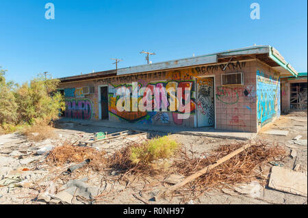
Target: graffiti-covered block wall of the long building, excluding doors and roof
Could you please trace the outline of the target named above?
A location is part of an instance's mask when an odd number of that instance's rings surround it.
[[[92,81],[62,83],[60,84],[60,88],[63,88],[65,91],[68,112],[66,115],[70,118],[99,120],[98,87],[99,85],[107,85],[109,91],[109,120],[123,123],[134,122],[140,124],[193,127],[197,126],[196,109],[198,99],[196,99],[196,79],[214,77],[214,123],[216,129],[256,132],[260,126],[260,124],[257,124],[257,107],[261,109],[261,105],[263,104],[262,100],[264,99],[262,93],[257,94],[257,78],[267,78],[268,75],[272,78],[274,77],[274,72],[265,64],[257,61],[233,62],[225,69],[224,66],[226,64],[198,66],[182,70],[129,74]],[[222,86],[221,74],[228,72],[243,72],[244,85]],[[259,72],[259,75],[257,75],[257,72]],[[116,97],[116,90],[121,87],[132,89],[131,83],[136,81],[138,82],[139,88],[189,87],[189,118],[183,120],[177,116],[178,114],[183,114],[183,108],[180,111],[117,111],[116,102],[118,98]],[[264,84],[262,81],[261,79],[258,83],[259,87],[266,86],[265,84],[267,83]],[[82,94],[80,88],[83,86],[94,86],[95,94]],[[138,98],[142,98],[142,95],[138,96]],[[270,98],[274,98],[274,96]],[[259,105],[257,105],[257,99],[259,99]],[[166,101],[166,99],[164,100]],[[167,101],[169,100],[167,99]],[[170,104],[169,102],[166,103]],[[272,102],[270,103],[272,104]],[[267,108],[264,105],[263,111]],[[280,111],[278,113],[280,114]],[[264,115],[259,120],[261,120],[261,124],[268,122],[268,119],[264,120]]]

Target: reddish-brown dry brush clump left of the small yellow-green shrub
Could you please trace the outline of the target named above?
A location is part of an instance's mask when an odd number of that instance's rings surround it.
[[[98,151],[95,148],[73,146],[67,142],[51,150],[47,156],[47,163],[64,165],[66,163],[81,163],[90,159],[88,167],[95,171],[101,171],[107,164],[105,151]]]

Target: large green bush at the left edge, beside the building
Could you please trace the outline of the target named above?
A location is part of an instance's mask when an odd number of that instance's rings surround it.
[[[5,81],[0,67],[0,131],[11,133],[27,125],[46,125],[65,109],[64,98],[57,92],[60,81],[39,74],[30,83],[19,86]]]

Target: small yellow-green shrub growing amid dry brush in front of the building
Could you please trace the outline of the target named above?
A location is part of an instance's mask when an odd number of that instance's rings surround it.
[[[169,159],[175,154],[177,148],[177,142],[169,139],[168,136],[156,137],[144,142],[140,146],[132,147],[131,162],[148,165],[159,159]]]

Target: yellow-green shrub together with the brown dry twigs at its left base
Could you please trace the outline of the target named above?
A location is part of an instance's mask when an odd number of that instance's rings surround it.
[[[164,161],[170,159],[179,145],[168,136],[155,137],[142,144],[132,143],[118,150],[110,157],[111,167],[129,169],[129,172],[150,172],[164,167]]]

